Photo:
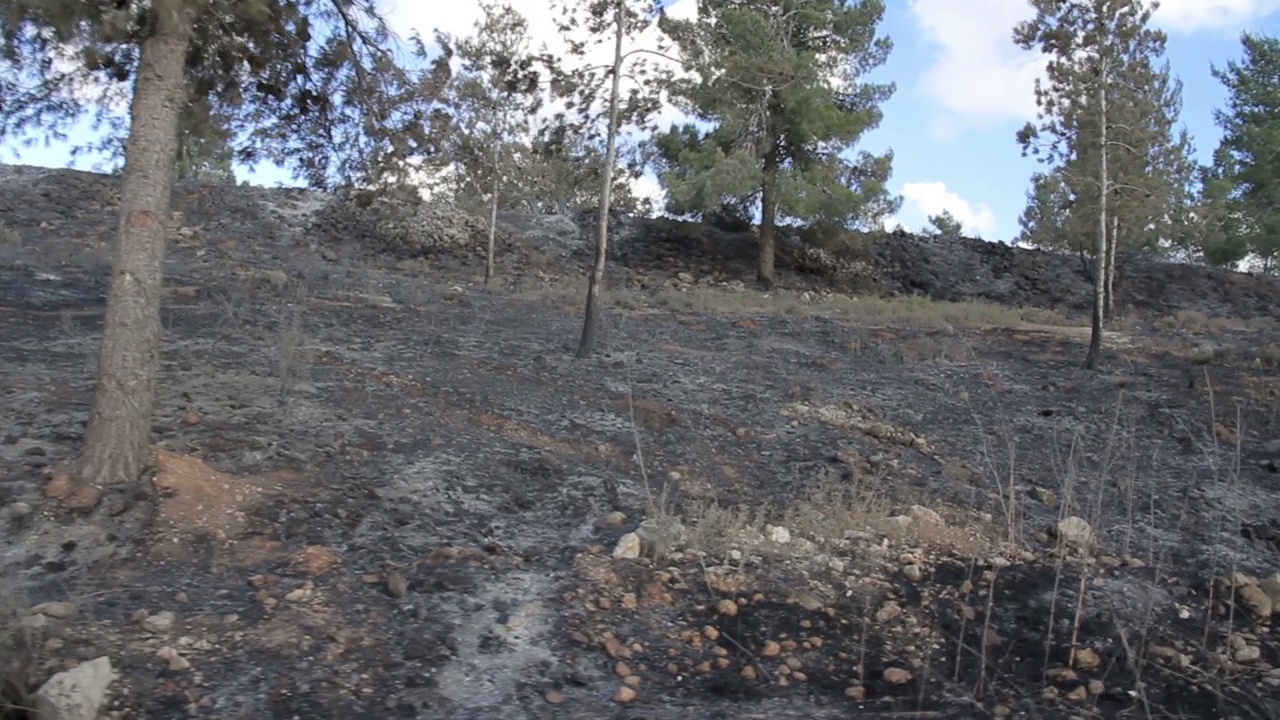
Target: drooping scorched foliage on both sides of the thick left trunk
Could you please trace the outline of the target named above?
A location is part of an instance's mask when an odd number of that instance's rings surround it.
[[[186,60],[192,169],[269,160],[314,187],[407,179],[436,150],[448,56],[421,38],[399,61],[372,0],[202,0]],[[83,117],[106,137],[77,152],[119,158],[120,111],[154,27],[150,3],[14,0],[0,13],[0,138],[65,141]],[[54,61],[50,61],[54,59]],[[212,126],[204,124],[211,120]],[[215,132],[206,132],[215,127]],[[35,136],[35,137],[32,137]],[[209,152],[206,152],[206,150]]]

